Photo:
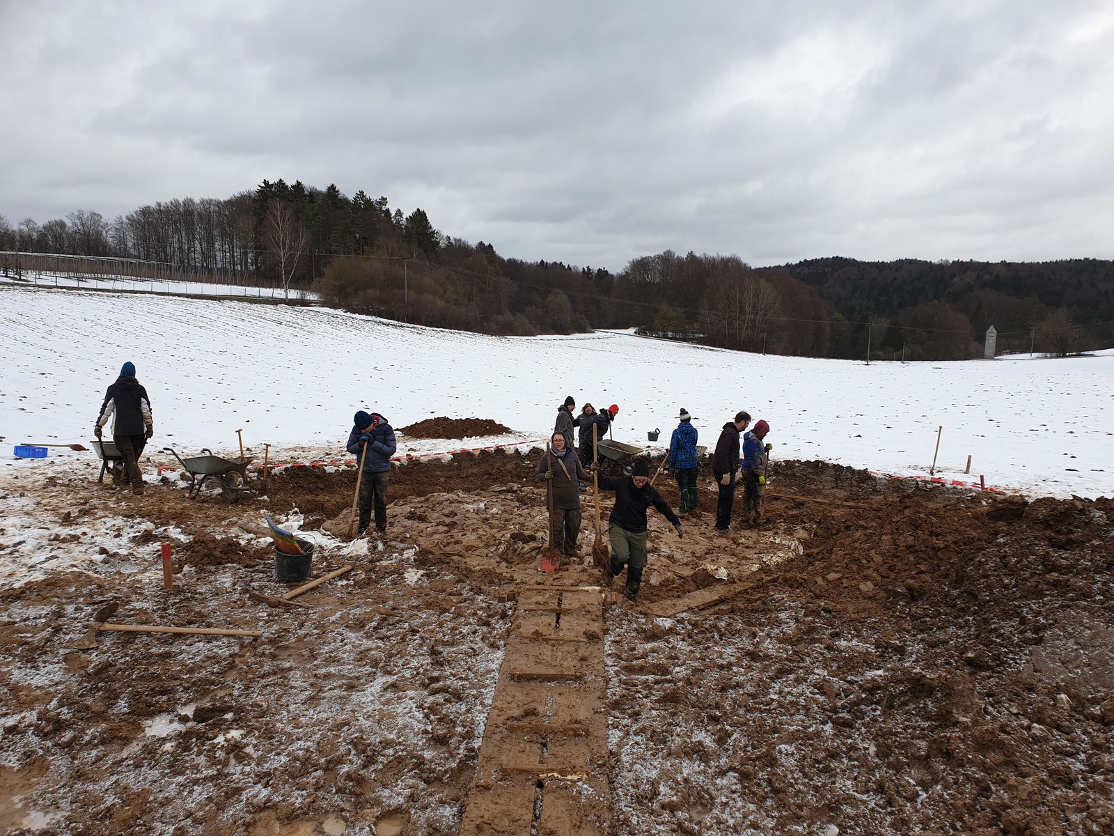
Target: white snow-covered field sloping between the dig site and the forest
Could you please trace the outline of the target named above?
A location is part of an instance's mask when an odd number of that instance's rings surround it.
[[[573,395],[577,410],[618,404],[615,438],[633,444],[646,445],[655,428],[658,446],[668,444],[684,407],[711,447],[746,409],[772,427],[774,467],[827,459],[927,474],[942,426],[937,470],[946,477],[984,475],[1032,494],[1114,493],[1114,352],[868,367],[629,333],[496,338],[321,308],[11,284],[0,284],[0,455],[9,463],[16,444],[88,444],[105,388],[130,360],[150,392],[153,447],[231,450],[243,428],[245,444],[344,455],[360,408],[395,427],[477,417],[544,437]]]

